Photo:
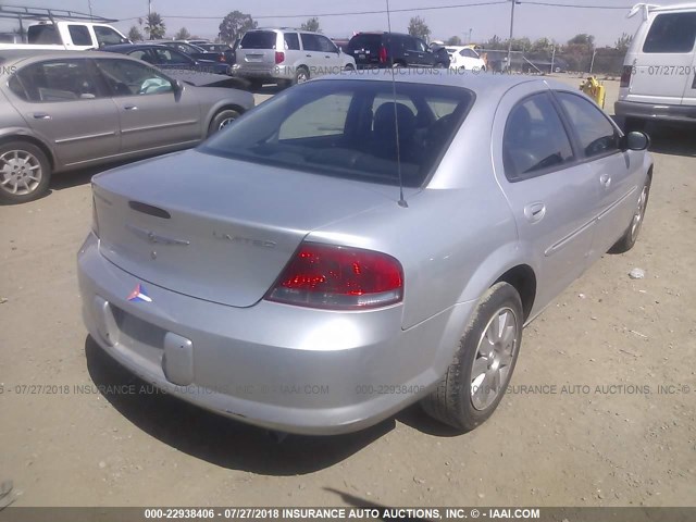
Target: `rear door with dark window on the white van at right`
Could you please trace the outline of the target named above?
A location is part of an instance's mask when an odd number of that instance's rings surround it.
[[[679,105],[693,83],[696,11],[654,13],[643,47],[636,49],[631,101]]]

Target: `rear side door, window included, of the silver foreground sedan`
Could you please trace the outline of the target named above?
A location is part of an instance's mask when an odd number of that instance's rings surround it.
[[[504,97],[493,130],[496,177],[514,215],[522,254],[537,274],[535,309],[587,266],[598,189],[580,162],[548,90],[522,84]]]

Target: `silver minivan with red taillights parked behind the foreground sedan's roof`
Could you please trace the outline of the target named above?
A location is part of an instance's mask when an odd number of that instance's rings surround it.
[[[322,74],[356,69],[352,57],[319,33],[290,28],[253,29],[244,35],[233,75],[260,87],[263,83],[293,85]]]

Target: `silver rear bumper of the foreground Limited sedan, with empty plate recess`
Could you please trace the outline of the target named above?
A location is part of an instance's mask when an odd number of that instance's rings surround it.
[[[188,402],[288,433],[358,431],[427,394],[475,304],[402,331],[400,304],[343,313],[184,296],[113,265],[92,234],[77,261],[85,325],[113,359]],[[138,284],[149,300],[127,299]]]

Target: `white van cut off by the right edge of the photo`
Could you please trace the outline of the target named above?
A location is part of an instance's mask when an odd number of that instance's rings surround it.
[[[639,129],[647,121],[696,124],[696,3],[638,4],[636,32],[623,62],[617,116],[626,129]]]

